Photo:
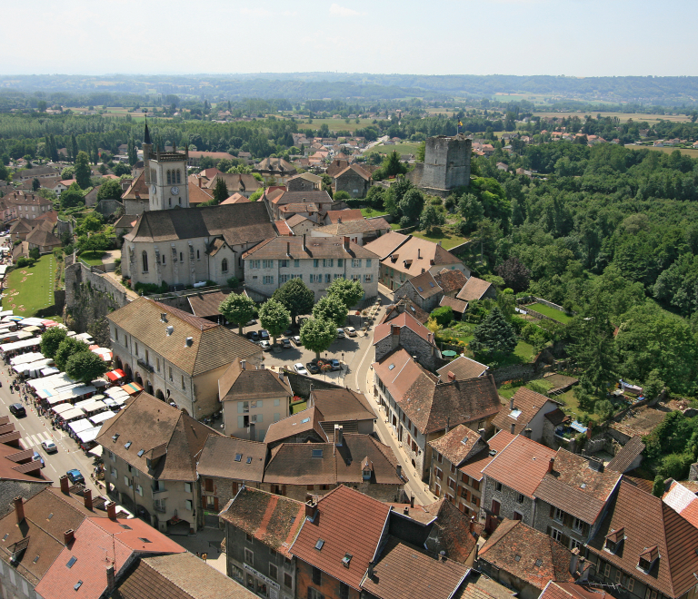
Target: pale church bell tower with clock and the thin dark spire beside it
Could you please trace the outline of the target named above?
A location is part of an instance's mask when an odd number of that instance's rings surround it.
[[[145,123],[143,137],[143,166],[145,183],[148,185],[148,210],[189,208],[189,188],[186,181],[186,162],[189,150],[160,152],[150,141],[150,132]]]

